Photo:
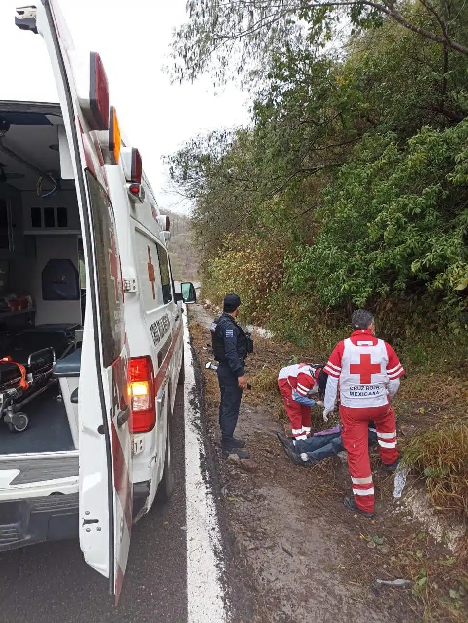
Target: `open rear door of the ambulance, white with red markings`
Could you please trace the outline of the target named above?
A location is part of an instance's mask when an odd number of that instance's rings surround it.
[[[110,579],[117,600],[130,545],[132,439],[122,274],[103,167],[107,154],[99,143],[109,127],[107,77],[97,53],[74,50],[57,0],[17,9],[16,24],[39,32],[47,44],[70,152],[70,173],[62,169],[62,178],[74,178],[77,189],[87,264],[79,385],[80,545],[86,562]]]

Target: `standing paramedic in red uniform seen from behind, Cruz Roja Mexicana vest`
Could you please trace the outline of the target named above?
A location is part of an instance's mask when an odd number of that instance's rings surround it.
[[[375,321],[370,312],[356,310],[351,324],[353,333],[335,346],[324,368],[328,383],[323,416],[333,411],[339,383],[341,434],[348,451],[354,493],[354,497],[345,497],[345,506],[371,517],[375,498],[367,447],[368,425],[370,420],[376,424],[384,467],[396,470],[396,424],[389,399],[398,391],[404,370],[393,348],[375,337]]]

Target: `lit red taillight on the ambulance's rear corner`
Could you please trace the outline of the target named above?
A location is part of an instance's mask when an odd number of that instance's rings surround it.
[[[151,357],[130,359],[128,396],[134,433],[148,432],[156,424],[155,374]]]

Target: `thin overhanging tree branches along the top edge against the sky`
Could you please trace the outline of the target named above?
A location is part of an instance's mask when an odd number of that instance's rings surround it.
[[[189,0],[186,11],[189,21],[175,32],[173,42],[173,76],[179,80],[194,80],[210,67],[220,83],[246,68],[262,75],[272,52],[304,40],[318,50],[340,21],[359,30],[397,22],[468,55],[464,0]]]

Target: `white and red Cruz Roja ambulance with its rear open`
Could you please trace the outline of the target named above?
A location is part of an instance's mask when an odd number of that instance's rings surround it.
[[[133,523],[173,491],[196,293],[174,289],[170,219],[100,55],[74,49],[57,0],[15,19],[59,103],[0,102],[0,551],[79,536],[118,599]]]

